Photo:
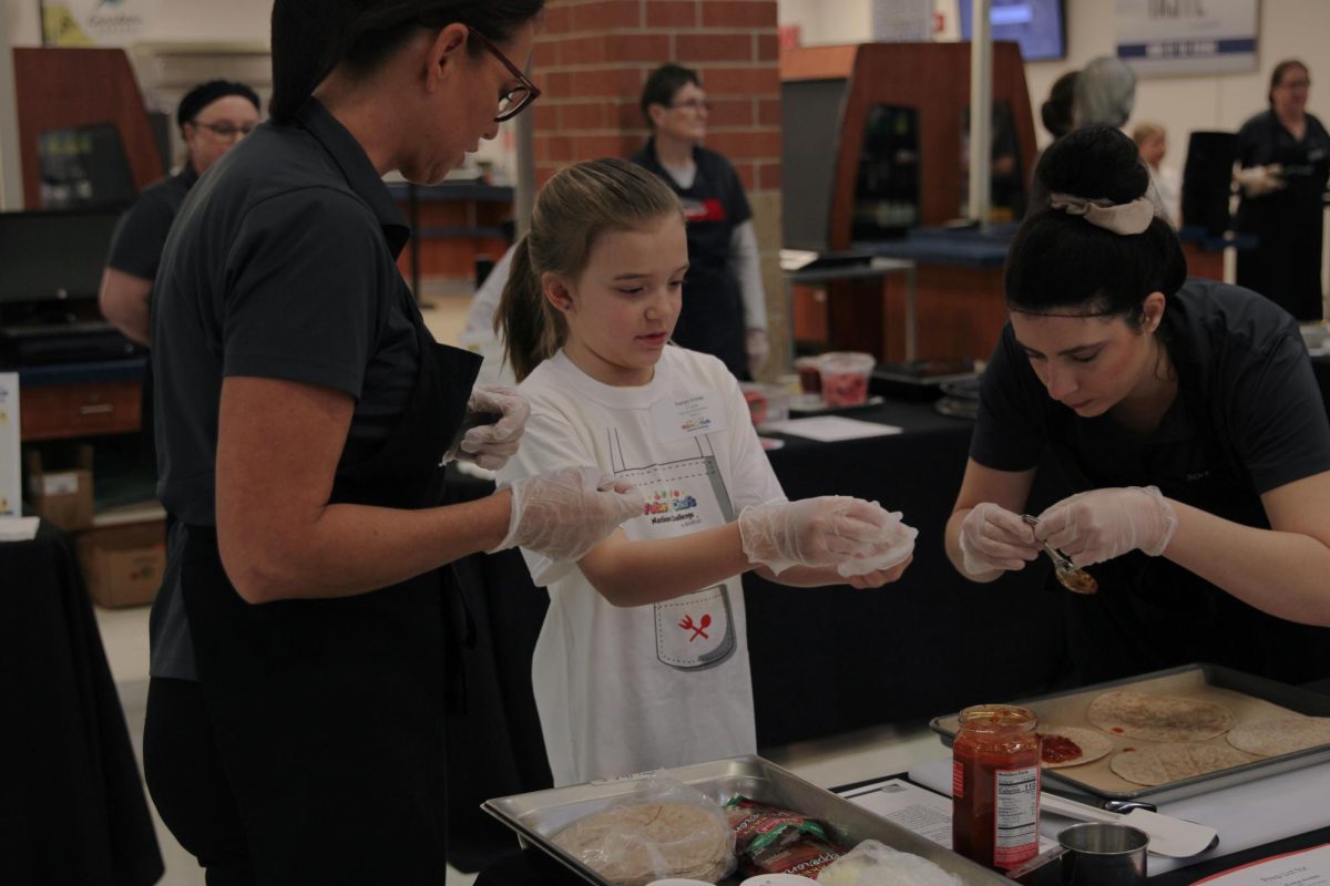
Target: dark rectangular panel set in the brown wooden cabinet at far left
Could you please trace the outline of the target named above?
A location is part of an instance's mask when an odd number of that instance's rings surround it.
[[[37,135],[43,209],[124,207],[138,197],[116,124],[48,129]]]

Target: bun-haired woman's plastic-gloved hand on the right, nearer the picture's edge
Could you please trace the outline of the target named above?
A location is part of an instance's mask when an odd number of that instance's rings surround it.
[[[1039,515],[1035,538],[1076,566],[1093,566],[1133,550],[1158,557],[1176,529],[1177,514],[1157,486],[1128,486],[1064,498]]]

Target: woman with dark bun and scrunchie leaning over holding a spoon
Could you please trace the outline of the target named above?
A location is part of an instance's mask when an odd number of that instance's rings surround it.
[[[1330,426],[1293,319],[1186,280],[1136,146],[1048,149],[1049,206],[1007,258],[1011,320],[984,373],[947,554],[990,582],[1049,542],[1099,592],[1057,594],[1081,680],[1216,662],[1330,675]],[[1076,490],[1021,519],[1048,450]],[[1053,584],[1053,587],[1057,587]]]

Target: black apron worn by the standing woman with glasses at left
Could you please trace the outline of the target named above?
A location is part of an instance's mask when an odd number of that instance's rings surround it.
[[[440,462],[480,357],[435,344],[414,317],[420,367],[407,412],[372,457],[339,469],[332,502],[443,501]],[[451,570],[253,606],[226,578],[215,531],[186,533],[198,677],[258,882],[443,883]]]

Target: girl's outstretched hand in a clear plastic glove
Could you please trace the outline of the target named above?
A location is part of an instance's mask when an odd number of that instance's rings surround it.
[[[749,562],[778,575],[791,566],[837,566],[854,555],[879,559],[895,541],[891,522],[880,506],[847,495],[749,505],[738,519]]]

